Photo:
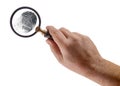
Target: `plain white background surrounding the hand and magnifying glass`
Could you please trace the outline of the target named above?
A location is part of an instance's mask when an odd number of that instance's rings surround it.
[[[40,33],[21,38],[12,32],[10,16],[21,6],[39,12],[43,29],[88,35],[105,59],[120,65],[119,0],[1,0],[0,86],[99,86],[60,65]]]

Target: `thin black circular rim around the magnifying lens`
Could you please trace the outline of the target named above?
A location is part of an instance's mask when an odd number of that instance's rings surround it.
[[[11,26],[13,32],[14,32],[15,34],[17,34],[18,36],[20,36],[20,37],[25,37],[25,38],[26,38],[26,37],[31,37],[31,36],[35,35],[37,32],[35,31],[34,33],[32,33],[32,34],[30,34],[30,35],[24,36],[24,35],[21,35],[21,34],[17,33],[17,32],[14,30],[14,28],[13,28],[13,25],[12,25],[13,16],[15,15],[15,13],[16,13],[17,11],[19,11],[19,10],[21,10],[21,9],[29,9],[29,10],[32,10],[33,12],[35,12],[36,15],[37,15],[37,17],[38,17],[38,20],[39,20],[39,25],[38,25],[38,26],[40,27],[40,25],[41,25],[40,15],[38,14],[38,12],[37,12],[36,10],[34,10],[34,9],[31,8],[31,7],[27,7],[27,6],[20,7],[20,8],[18,8],[18,9],[16,9],[16,10],[12,13],[11,18],[10,18],[10,26]]]

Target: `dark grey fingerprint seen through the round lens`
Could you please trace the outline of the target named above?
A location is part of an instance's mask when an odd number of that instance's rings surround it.
[[[26,11],[21,15],[21,26],[25,33],[30,32],[36,25],[37,17],[33,12]]]

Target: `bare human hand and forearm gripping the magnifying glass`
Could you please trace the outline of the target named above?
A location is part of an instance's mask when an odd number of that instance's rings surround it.
[[[120,66],[102,58],[89,37],[65,28],[46,29],[53,38],[46,42],[59,63],[102,86],[120,86]]]

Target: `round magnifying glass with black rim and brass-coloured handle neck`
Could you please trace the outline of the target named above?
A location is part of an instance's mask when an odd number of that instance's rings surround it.
[[[37,32],[41,32],[44,37],[52,38],[48,31],[40,28],[40,15],[31,7],[16,9],[11,15],[10,26],[13,32],[20,37],[31,37]]]

